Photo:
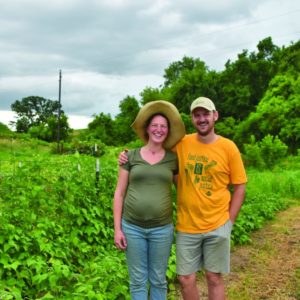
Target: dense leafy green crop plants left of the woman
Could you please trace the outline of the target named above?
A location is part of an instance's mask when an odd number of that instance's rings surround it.
[[[35,157],[2,173],[0,296],[129,298],[124,254],[113,247],[116,170],[102,163],[98,183],[95,160],[80,155]]]

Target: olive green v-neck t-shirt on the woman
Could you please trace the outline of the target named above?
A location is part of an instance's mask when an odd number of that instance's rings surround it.
[[[123,218],[134,225],[151,228],[172,223],[172,183],[178,173],[177,156],[166,151],[156,164],[149,164],[140,155],[141,149],[128,152],[129,171]]]

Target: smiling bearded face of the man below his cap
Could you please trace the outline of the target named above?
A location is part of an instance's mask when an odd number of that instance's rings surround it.
[[[192,122],[198,134],[207,136],[214,132],[215,122],[218,120],[218,112],[208,111],[205,108],[198,107],[192,112]]]

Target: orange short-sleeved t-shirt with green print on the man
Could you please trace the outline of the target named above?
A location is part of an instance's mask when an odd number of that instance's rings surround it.
[[[179,160],[176,229],[203,233],[225,224],[230,184],[247,182],[237,146],[224,137],[203,144],[194,133],[186,135],[174,150]]]

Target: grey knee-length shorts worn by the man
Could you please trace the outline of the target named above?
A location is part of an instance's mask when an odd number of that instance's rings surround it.
[[[230,235],[232,222],[206,233],[176,234],[176,271],[189,275],[204,268],[213,273],[230,271]]]

